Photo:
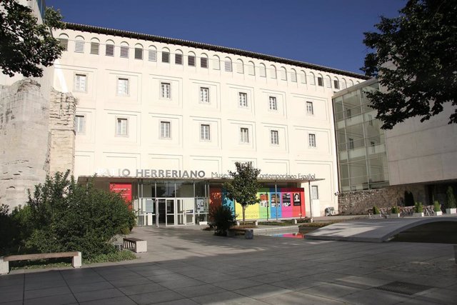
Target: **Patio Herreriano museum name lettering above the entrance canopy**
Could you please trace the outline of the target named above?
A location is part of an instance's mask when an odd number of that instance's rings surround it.
[[[98,169],[97,176],[132,177],[132,178],[175,178],[175,179],[231,179],[229,174],[211,171],[211,176],[206,176],[201,170],[171,170],[171,169]],[[259,174],[258,179],[265,180],[313,180],[316,174]]]

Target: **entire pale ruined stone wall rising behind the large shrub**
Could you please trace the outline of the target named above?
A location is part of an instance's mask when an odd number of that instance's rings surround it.
[[[0,86],[0,204],[24,205],[46,174],[73,169],[76,101],[31,79]]]

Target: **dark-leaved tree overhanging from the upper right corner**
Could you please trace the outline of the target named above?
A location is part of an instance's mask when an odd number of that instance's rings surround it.
[[[364,33],[375,52],[361,70],[386,88],[367,93],[382,129],[414,116],[426,121],[446,103],[457,106],[457,1],[409,0],[399,12],[381,17],[378,33]],[[448,121],[456,123],[457,108]]]

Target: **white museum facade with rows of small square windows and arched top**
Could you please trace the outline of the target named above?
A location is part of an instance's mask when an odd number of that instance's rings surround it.
[[[305,188],[313,201],[312,207],[304,203],[306,216],[311,208],[313,216],[337,209],[331,96],[364,76],[79,24],[54,36],[66,45],[54,87],[78,100],[79,181],[97,174],[105,188],[132,184],[131,199],[140,209],[142,197],[159,197],[157,183],[207,181],[206,202],[213,183],[224,181],[236,161],[251,161],[266,187]],[[190,206],[187,211],[194,210]]]

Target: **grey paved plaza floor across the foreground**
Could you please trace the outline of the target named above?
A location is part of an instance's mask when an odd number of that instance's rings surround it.
[[[0,304],[456,304],[451,244],[224,238],[136,228],[148,252],[0,276]]]

